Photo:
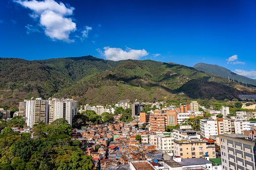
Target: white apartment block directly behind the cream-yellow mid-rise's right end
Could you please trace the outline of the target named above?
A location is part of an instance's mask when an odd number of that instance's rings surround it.
[[[217,120],[201,119],[200,120],[200,133],[204,138],[218,135]]]

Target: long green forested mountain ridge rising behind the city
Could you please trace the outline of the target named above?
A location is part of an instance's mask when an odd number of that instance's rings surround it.
[[[31,97],[112,104],[123,99],[146,102],[215,97],[223,100],[237,98],[237,94],[255,92],[213,73],[176,63],[111,61],[93,56],[33,61],[0,58],[0,106],[18,105],[19,101]]]

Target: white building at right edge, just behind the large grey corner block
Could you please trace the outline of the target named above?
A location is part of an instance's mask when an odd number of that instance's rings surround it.
[[[234,121],[234,128],[236,134],[243,134],[244,130],[254,130],[256,121]]]

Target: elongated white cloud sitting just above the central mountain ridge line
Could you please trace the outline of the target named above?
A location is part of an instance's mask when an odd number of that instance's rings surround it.
[[[110,47],[104,47],[104,51],[101,51],[100,49],[97,49],[97,51],[105,56],[109,60],[127,60],[127,59],[133,59],[137,60],[140,57],[144,57],[148,55],[148,52],[144,49],[142,50],[134,50],[130,48],[126,48],[126,50],[122,50],[121,48],[110,48]]]

